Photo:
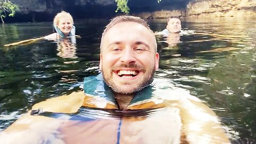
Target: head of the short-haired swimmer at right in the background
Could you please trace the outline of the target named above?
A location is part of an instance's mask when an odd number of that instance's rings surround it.
[[[179,33],[181,30],[181,21],[179,17],[170,17],[167,20],[166,29],[169,30],[170,33]]]

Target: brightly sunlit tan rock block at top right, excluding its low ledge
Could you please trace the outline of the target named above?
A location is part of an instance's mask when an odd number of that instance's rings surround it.
[[[256,0],[195,1],[186,11],[187,17],[254,17]]]

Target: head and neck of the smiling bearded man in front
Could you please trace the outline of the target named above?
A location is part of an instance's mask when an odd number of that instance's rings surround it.
[[[117,101],[125,109],[135,92],[153,81],[158,69],[156,38],[138,17],[117,17],[106,27],[100,45],[100,69]],[[129,100],[130,99],[130,100]]]

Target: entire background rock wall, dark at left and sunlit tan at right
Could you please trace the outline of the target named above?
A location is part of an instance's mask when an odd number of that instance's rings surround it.
[[[11,0],[20,7],[12,21],[52,21],[62,10],[76,18],[111,18],[115,0]],[[129,0],[133,15],[145,19],[178,17],[256,17],[256,0]]]

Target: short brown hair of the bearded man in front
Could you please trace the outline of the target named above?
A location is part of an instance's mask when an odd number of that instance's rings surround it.
[[[118,16],[118,17],[115,17],[115,18],[110,20],[110,22],[108,23],[108,25],[106,26],[106,28],[104,29],[104,31],[102,33],[101,43],[100,43],[100,51],[102,50],[102,43],[103,43],[102,39],[106,35],[107,31],[110,28],[112,28],[114,25],[116,25],[117,23],[120,23],[120,22],[137,22],[140,25],[146,27],[152,33],[152,36],[154,37],[154,41],[155,41],[155,46],[154,47],[155,47],[155,50],[157,51],[156,38],[154,36],[153,31],[149,28],[147,22],[145,20],[141,19],[140,17],[134,17],[134,16],[131,16],[131,15],[122,15],[122,16]]]

